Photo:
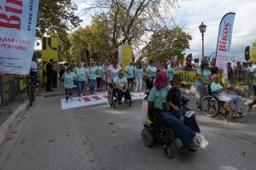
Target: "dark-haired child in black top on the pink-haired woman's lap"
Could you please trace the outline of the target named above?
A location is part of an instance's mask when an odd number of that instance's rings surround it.
[[[185,116],[190,109],[186,106],[189,99],[181,94],[180,87],[182,84],[182,78],[179,75],[174,75],[172,81],[172,88],[167,95],[167,104],[169,105],[169,110],[173,116],[176,116],[181,122],[185,124],[189,122],[192,125],[190,128],[194,129],[195,132],[200,133],[200,128],[195,122],[195,116]],[[190,111],[190,113],[195,113]],[[190,123],[192,122],[192,123]]]

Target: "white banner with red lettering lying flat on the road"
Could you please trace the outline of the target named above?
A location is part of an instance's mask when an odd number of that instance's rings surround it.
[[[145,93],[131,93],[131,99],[144,99],[146,96]],[[84,107],[90,105],[101,105],[108,103],[108,94],[93,94],[84,96],[82,100],[79,101],[78,97],[73,97],[69,99],[68,103],[66,103],[66,99],[61,99],[61,109],[72,109],[76,107]]]

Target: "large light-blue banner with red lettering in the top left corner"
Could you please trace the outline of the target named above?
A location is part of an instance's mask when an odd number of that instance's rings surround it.
[[[39,0],[0,1],[0,72],[27,75],[32,64]]]

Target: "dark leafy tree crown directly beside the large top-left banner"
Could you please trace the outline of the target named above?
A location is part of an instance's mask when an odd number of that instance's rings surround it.
[[[40,0],[37,37],[66,34],[78,27],[81,20],[75,10],[77,6],[71,0]]]

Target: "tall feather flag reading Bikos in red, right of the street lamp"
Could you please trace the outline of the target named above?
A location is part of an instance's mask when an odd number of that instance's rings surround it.
[[[228,71],[226,65],[228,62],[230,62],[230,48],[235,15],[235,13],[225,14],[220,21],[218,30],[216,65],[220,70],[224,70],[225,79],[228,79]]]

